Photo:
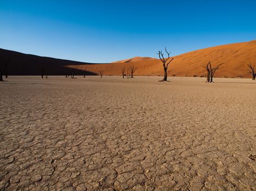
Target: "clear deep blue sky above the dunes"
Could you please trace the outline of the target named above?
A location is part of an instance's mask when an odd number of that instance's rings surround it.
[[[0,0],[0,47],[105,63],[256,39],[254,0]]]

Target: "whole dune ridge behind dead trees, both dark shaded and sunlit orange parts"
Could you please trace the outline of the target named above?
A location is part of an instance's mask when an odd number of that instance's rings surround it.
[[[4,51],[5,53],[3,53]],[[6,60],[8,56],[11,58],[13,57],[13,51],[9,52],[12,53],[7,54],[7,50],[0,49],[1,65],[3,64],[2,60]],[[18,52],[15,53],[17,54]],[[81,75],[83,71],[87,71],[87,75],[96,75],[99,74],[99,70],[103,70],[104,75],[121,75],[121,67],[126,67],[127,69],[130,65],[134,65],[137,68],[135,75],[163,75],[163,66],[160,59],[150,57],[134,57],[113,63],[93,64],[25,55],[22,53],[18,54],[19,59],[14,58],[13,63],[10,65],[12,66],[12,68],[9,70],[10,74],[33,75],[35,73],[35,69],[38,73],[42,65],[47,65],[49,68],[49,75],[51,75],[50,67],[55,65],[52,75],[63,75],[69,73],[71,69],[76,70],[76,75]],[[30,65],[26,65],[26,61],[29,60],[29,58]],[[202,66],[206,65],[209,61],[211,61],[213,66],[224,62],[219,70],[216,71],[216,77],[251,77],[247,71],[247,64],[252,63],[253,65],[256,65],[256,40],[245,43],[208,47],[206,49],[191,51],[174,56],[174,60],[170,63],[168,68],[168,75],[206,75],[206,71]],[[20,67],[20,65],[22,65],[21,63],[23,63],[23,68]],[[35,65],[37,65],[36,68]],[[62,72],[60,73],[58,69],[61,69]],[[28,71],[30,71],[30,73],[28,73]]]

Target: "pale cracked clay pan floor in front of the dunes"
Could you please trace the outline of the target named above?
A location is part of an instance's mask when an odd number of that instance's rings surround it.
[[[9,76],[0,190],[255,190],[250,79]]]

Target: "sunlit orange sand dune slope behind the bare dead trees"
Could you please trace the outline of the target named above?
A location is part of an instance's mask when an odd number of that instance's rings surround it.
[[[216,71],[215,77],[251,77],[247,71],[247,64],[256,65],[256,40],[208,47],[174,56],[168,68],[168,75],[205,76],[206,70],[202,66],[209,61],[211,61],[213,67],[224,62]],[[96,74],[99,73],[99,70],[103,70],[104,75],[121,75],[121,67],[126,67],[127,70],[130,65],[137,68],[135,75],[163,75],[163,66],[160,59],[148,57],[135,57],[108,64],[80,64],[68,65],[67,67]]]

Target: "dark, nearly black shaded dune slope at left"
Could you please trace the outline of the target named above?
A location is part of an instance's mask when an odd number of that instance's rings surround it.
[[[89,63],[69,61],[65,59],[56,59],[50,57],[41,57],[36,55],[28,55],[25,53],[0,49],[0,67],[8,62],[5,73],[8,75],[96,75],[92,71],[86,69],[68,68],[67,65],[86,65]]]

